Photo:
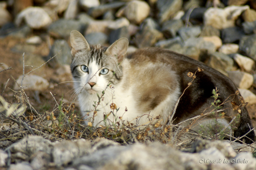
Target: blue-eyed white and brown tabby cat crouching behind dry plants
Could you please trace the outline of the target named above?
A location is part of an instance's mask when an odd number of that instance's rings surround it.
[[[212,90],[217,88],[218,99],[223,103],[222,114],[225,113],[224,118],[217,121],[228,126],[240,111],[239,121],[232,124],[237,128],[233,130],[234,137],[240,137],[252,129],[247,109],[239,107],[243,100],[234,83],[200,61],[156,47],[127,53],[127,38],[117,40],[108,48],[89,45],[76,30],[71,31],[70,41],[70,68],[85,124],[90,122],[93,126],[105,126],[106,123],[122,119],[144,125],[156,117],[159,119],[155,119],[155,122],[162,120],[166,123],[179,97],[193,79],[188,73],[196,73],[194,81],[179,99],[172,123],[177,124],[212,110]],[[104,94],[103,98],[95,111],[101,94]],[[119,108],[117,112],[114,110],[116,108]],[[108,122],[103,121],[104,116]],[[201,125],[207,126],[214,120],[205,117],[191,129],[200,130]],[[182,125],[189,126],[189,122]],[[226,131],[231,131],[231,127]],[[252,143],[254,131],[247,137],[244,141]]]

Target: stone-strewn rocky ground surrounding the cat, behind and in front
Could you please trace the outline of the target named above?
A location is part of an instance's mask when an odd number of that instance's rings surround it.
[[[244,100],[249,102],[247,108],[256,126],[255,4],[254,0],[1,1],[0,93],[8,108],[0,110],[6,114],[15,103],[24,104],[27,109],[20,119],[1,116],[0,168],[256,169],[256,159],[251,154],[254,145],[199,140],[180,147],[183,145],[163,137],[157,138],[159,143],[138,144],[146,142],[144,137],[150,131],[136,131],[135,137],[129,131],[132,139],[129,143],[123,140],[127,136],[123,135],[124,131],[120,132],[122,140],[105,130],[105,136],[102,135],[101,129],[91,134],[90,127],[84,127],[89,129],[84,132],[76,127],[73,119],[70,119],[74,124],[70,126],[72,130],[68,126],[49,129],[42,123],[48,120],[54,124],[54,116],[58,119],[62,107],[58,110],[56,103],[66,102],[63,107],[67,109],[73,101],[69,35],[72,30],[78,30],[90,44],[108,46],[126,37],[129,51],[157,46],[208,64],[238,86]],[[22,83],[25,93],[18,92],[21,89],[17,83],[21,84],[25,74]],[[76,105],[72,112],[78,110]],[[67,111],[63,109],[63,112]],[[118,142],[97,139],[97,136],[108,139],[115,136]],[[125,141],[138,143],[124,146]],[[204,147],[196,149],[198,145]],[[219,160],[222,162],[217,163]],[[237,161],[232,163],[232,160]]]

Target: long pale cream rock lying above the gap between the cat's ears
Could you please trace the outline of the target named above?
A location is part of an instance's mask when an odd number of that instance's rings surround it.
[[[118,29],[124,26],[129,26],[130,22],[126,18],[116,20],[93,20],[89,23],[85,35],[92,32],[103,32],[109,34],[111,30]]]

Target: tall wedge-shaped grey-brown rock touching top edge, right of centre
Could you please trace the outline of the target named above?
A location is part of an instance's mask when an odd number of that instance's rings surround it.
[[[163,23],[171,19],[174,14],[182,8],[182,0],[158,0],[156,6],[159,10],[159,22]]]

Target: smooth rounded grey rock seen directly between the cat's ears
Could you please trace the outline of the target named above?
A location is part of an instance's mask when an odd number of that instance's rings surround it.
[[[108,42],[108,36],[102,32],[92,32],[85,36],[87,42],[92,45],[104,44]]]

